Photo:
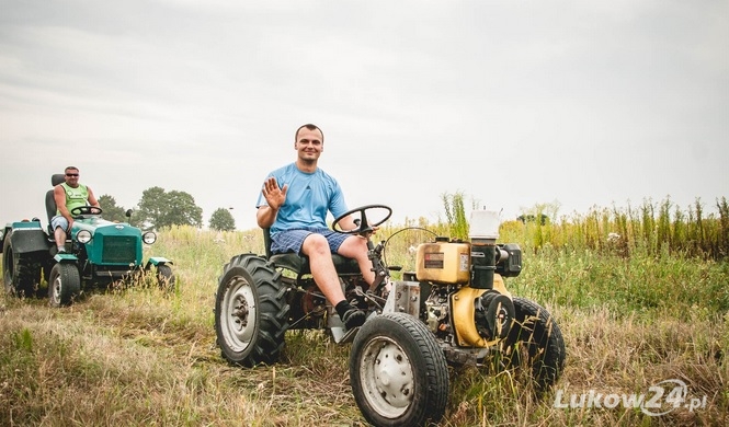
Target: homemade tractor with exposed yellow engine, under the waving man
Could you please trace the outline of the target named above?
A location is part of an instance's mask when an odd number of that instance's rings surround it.
[[[350,215],[358,228],[341,230]],[[565,365],[562,335],[547,310],[506,290],[503,278],[521,273],[522,254],[516,244],[497,244],[498,214],[474,211],[469,242],[436,238],[419,245],[415,270],[405,272],[403,280],[390,279],[398,268],[385,264],[387,242],[371,240],[390,215],[387,206],[364,206],[331,226],[367,239],[376,276],[363,291],[367,285],[357,264],[333,255],[348,300],[368,314],[350,331],[314,282],[308,259],[271,255],[264,230],[265,256],[237,255],[219,277],[215,330],[223,357],[243,367],[274,363],[287,330],[328,330],[337,343],[352,342],[352,392],[375,426],[438,422],[447,404],[448,365],[498,360],[503,369],[528,369],[536,390],[554,384]]]

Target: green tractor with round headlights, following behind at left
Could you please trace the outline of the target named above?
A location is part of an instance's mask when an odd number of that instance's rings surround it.
[[[50,178],[53,186],[62,182],[62,174]],[[174,288],[171,261],[157,256],[143,263],[143,242],[155,243],[155,232],[143,233],[127,222],[107,221],[101,208],[80,206],[71,210],[73,226],[66,252],[58,253],[50,228],[50,218],[56,215],[53,189],[46,193],[45,206],[47,227],[33,218],[10,222],[0,234],[5,292],[21,298],[42,297],[45,277],[50,305],[61,307],[71,304],[82,289],[105,288],[143,274],[155,274],[164,289]],[[130,217],[132,210],[126,215]]]

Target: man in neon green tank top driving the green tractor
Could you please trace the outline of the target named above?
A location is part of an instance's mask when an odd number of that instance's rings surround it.
[[[99,206],[96,197],[91,187],[79,184],[79,169],[66,168],[66,182],[54,187],[54,199],[56,200],[56,216],[50,219],[50,227],[56,239],[58,252],[66,252],[66,233],[71,232],[73,217],[71,210],[79,206]]]

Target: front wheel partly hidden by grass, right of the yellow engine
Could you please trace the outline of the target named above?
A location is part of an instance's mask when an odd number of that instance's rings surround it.
[[[502,357],[508,368],[531,369],[537,391],[551,386],[565,368],[565,341],[549,312],[534,301],[514,298],[514,324]]]

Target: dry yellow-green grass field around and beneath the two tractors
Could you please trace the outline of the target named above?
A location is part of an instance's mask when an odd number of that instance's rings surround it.
[[[638,238],[626,254],[604,242],[619,221],[580,221],[539,224],[538,239],[536,224],[508,222],[501,232],[501,241],[524,250],[524,270],[508,279],[510,290],[547,308],[562,330],[567,365],[555,390],[536,397],[519,372],[454,370],[440,425],[727,425],[727,261],[652,250]],[[409,226],[449,233],[448,224]],[[400,228],[385,227],[377,238]],[[567,230],[601,243],[578,244]],[[412,268],[409,249],[430,240],[422,230],[394,235],[389,264]],[[146,281],[90,291],[64,309],[0,297],[0,425],[366,425],[351,394],[349,346],[321,332],[289,332],[275,366],[240,369],[221,359],[213,327],[217,277],[232,255],[263,251],[260,231],[175,228],[149,251],[174,259],[174,292]],[[659,417],[623,405],[555,407],[557,391],[648,393],[668,379],[684,381],[692,397],[706,396],[706,407]]]

